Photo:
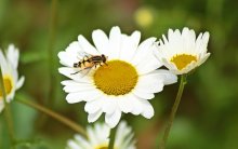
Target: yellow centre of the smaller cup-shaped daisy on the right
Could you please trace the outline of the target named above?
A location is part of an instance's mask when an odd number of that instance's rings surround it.
[[[178,54],[171,58],[171,62],[176,65],[178,70],[184,69],[191,62],[197,62],[197,57],[188,54]]]

